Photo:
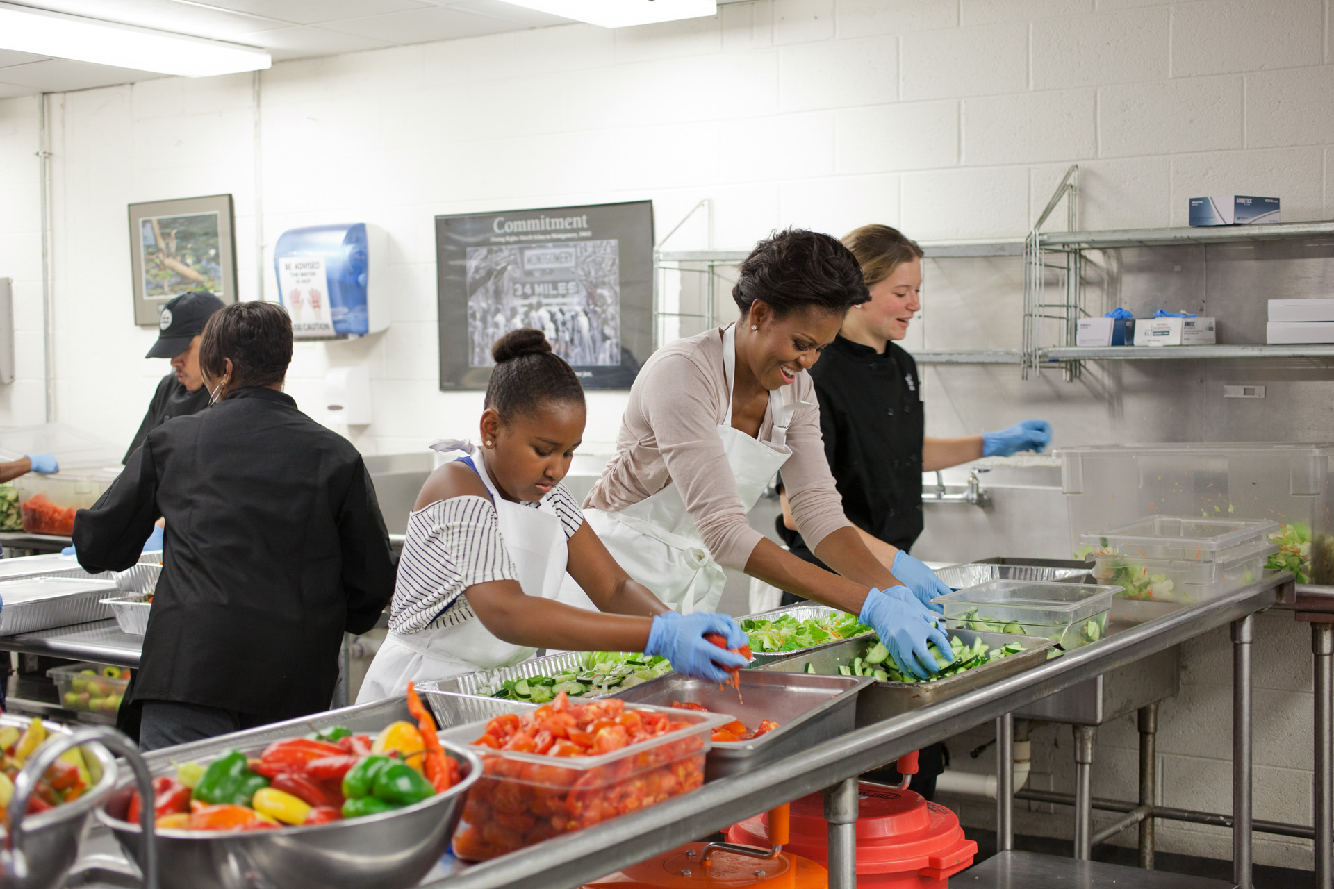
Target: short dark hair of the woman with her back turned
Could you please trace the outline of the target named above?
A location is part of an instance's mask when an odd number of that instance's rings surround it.
[[[276,303],[232,303],[213,312],[199,343],[199,367],[219,380],[232,360],[231,388],[281,383],[292,363],[292,319]]]

